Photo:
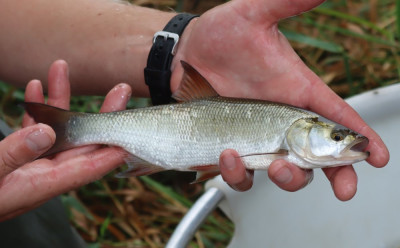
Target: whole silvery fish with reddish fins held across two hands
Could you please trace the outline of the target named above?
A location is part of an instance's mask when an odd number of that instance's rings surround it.
[[[172,95],[177,103],[79,113],[26,102],[27,113],[56,132],[43,156],[90,144],[118,146],[127,153],[128,169],[117,177],[195,171],[195,182],[220,174],[225,149],[235,149],[249,170],[266,170],[276,159],[315,169],[369,156],[365,136],[294,106],[220,96],[195,68],[181,64],[182,82]]]

